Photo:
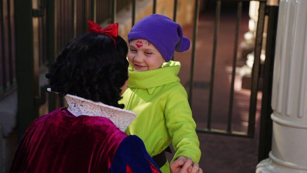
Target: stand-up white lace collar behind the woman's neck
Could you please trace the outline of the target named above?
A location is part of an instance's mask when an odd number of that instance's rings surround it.
[[[47,91],[52,92],[51,88],[48,88]],[[73,115],[88,115],[108,118],[123,132],[126,131],[132,120],[136,118],[136,113],[132,111],[109,106],[101,102],[86,100],[76,95],[67,94],[65,95],[65,100],[68,104],[67,110]]]

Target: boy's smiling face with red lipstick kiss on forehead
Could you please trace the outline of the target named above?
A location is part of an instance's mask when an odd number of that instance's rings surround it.
[[[144,39],[130,41],[128,60],[134,71],[158,69],[165,62],[158,49]]]

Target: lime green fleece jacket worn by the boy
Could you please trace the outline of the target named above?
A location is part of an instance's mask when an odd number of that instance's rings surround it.
[[[140,137],[150,156],[161,153],[172,142],[175,149],[172,161],[185,156],[199,162],[201,151],[196,124],[187,92],[177,76],[180,66],[180,62],[170,61],[159,69],[143,72],[129,67],[128,88],[119,103],[136,113],[126,133]],[[168,166],[167,162],[161,171],[169,172]]]

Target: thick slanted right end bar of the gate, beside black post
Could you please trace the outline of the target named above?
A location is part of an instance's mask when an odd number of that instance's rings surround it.
[[[264,26],[264,17],[265,17],[265,8],[266,2],[259,2],[259,13],[258,13],[258,22],[256,30],[256,41],[255,41],[255,58],[252,69],[252,86],[251,86],[251,96],[249,104],[249,126],[247,133],[250,137],[254,136],[255,132],[255,117],[256,117],[256,106],[257,106],[257,92],[258,92],[258,80],[260,72],[260,55],[262,48],[262,33]]]

